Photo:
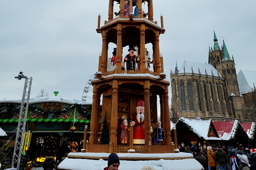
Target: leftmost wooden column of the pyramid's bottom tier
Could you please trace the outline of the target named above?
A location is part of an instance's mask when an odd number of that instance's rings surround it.
[[[90,123],[90,138],[89,142],[91,144],[95,143],[95,127],[97,121],[97,102],[98,100],[98,89],[96,84],[93,84],[93,95],[92,95],[92,114],[91,114],[91,123]]]

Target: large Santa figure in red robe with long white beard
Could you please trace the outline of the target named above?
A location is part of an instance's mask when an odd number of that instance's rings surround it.
[[[134,126],[133,143],[145,144],[145,125],[144,125],[144,101],[138,100],[136,107],[137,114],[134,115],[133,120],[136,125]]]

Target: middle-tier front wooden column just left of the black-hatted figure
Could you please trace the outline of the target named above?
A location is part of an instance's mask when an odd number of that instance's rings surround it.
[[[117,25],[116,67],[117,67],[117,70],[121,72],[122,70],[122,24]]]

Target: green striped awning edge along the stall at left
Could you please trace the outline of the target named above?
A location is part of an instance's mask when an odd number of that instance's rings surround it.
[[[67,118],[28,118],[27,123],[73,123],[74,119]],[[90,123],[90,120],[76,120],[75,123]],[[0,123],[19,123],[19,119],[1,119]]]

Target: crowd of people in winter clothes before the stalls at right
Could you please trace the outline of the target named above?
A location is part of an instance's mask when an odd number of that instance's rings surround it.
[[[256,148],[245,148],[242,145],[234,148],[225,145],[221,146],[199,146],[194,143],[191,147],[178,147],[180,151],[193,154],[194,158],[204,167],[205,170],[250,170],[256,169]]]

